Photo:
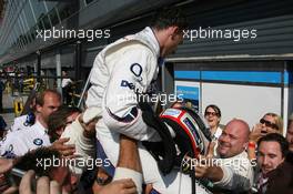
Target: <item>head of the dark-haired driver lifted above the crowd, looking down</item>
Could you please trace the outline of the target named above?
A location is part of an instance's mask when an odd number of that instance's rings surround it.
[[[165,57],[183,42],[183,30],[188,28],[186,18],[176,8],[159,10],[151,24],[160,44],[160,54]]]

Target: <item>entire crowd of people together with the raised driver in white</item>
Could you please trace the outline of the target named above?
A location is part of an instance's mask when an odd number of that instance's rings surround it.
[[[209,143],[202,145],[206,152],[195,159],[183,155],[191,161],[188,174],[181,164],[156,159],[142,144],[151,142],[160,150],[160,143],[169,141],[165,156],[179,137],[168,124],[165,134],[158,131],[150,122],[160,121],[155,111],[138,99],[154,90],[158,63],[176,49],[188,28],[174,8],[154,18],[151,27],[98,54],[87,109],[67,106],[68,100],[55,90],[36,94],[29,113],[16,118],[0,143],[1,193],[293,193],[293,116],[284,137],[283,121],[275,113],[265,113],[250,129],[242,119],[221,124],[224,113],[208,105],[203,114]],[[122,95],[128,100],[121,101]],[[170,112],[186,109],[186,118],[193,118],[195,112],[182,103]]]

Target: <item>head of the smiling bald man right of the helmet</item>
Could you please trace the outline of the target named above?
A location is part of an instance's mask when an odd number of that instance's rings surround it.
[[[218,154],[222,159],[242,153],[247,146],[250,135],[249,124],[239,119],[230,121],[219,137]]]

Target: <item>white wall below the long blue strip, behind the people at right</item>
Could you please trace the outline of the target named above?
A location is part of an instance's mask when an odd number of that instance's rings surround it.
[[[226,124],[238,118],[246,121],[252,127],[267,112],[282,114],[281,88],[192,81],[175,81],[175,88],[176,85],[199,88],[200,112],[204,113],[204,109],[209,104],[218,105],[222,112],[221,124]],[[285,96],[287,96],[285,90]],[[287,101],[287,98],[284,100]],[[286,104],[284,103],[283,115],[287,114]]]

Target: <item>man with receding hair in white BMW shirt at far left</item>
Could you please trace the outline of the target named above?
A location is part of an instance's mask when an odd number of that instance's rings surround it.
[[[51,145],[47,133],[48,118],[61,105],[61,95],[54,90],[46,90],[37,96],[36,103],[36,123],[27,130],[9,133],[1,145],[2,156],[20,156],[39,146]]]

